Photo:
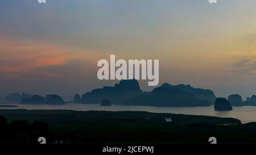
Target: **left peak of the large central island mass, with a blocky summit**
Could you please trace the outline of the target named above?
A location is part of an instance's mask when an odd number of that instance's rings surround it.
[[[82,103],[101,103],[102,99],[108,99],[112,103],[123,104],[127,98],[141,93],[136,79],[122,80],[114,87],[105,86],[82,95]]]

